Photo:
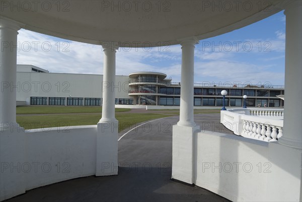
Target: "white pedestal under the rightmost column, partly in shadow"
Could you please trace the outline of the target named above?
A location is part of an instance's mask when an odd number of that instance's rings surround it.
[[[302,168],[301,150],[273,142],[268,144],[268,168],[262,172],[268,173],[267,190],[278,190],[267,194],[267,201],[301,201],[302,197]],[[264,168],[264,167],[263,167]],[[266,169],[264,168],[264,169]]]

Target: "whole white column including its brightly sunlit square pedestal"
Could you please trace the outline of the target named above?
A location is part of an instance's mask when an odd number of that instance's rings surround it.
[[[180,118],[173,125],[172,141],[172,179],[189,184],[196,181],[195,176],[195,134],[199,125],[194,122],[194,48],[198,41],[189,38],[181,41],[182,66],[180,90]]]

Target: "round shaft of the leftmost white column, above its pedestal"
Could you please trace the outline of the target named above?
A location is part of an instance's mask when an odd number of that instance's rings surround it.
[[[16,23],[0,20],[0,129],[19,126],[16,123],[17,35]]]

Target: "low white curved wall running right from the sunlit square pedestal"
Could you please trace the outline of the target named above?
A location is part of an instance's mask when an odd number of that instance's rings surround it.
[[[195,184],[232,201],[300,201],[301,150],[231,134],[195,134]]]

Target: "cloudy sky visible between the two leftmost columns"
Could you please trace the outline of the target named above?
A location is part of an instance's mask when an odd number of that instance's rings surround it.
[[[60,41],[59,41],[60,40]],[[35,32],[20,30],[18,64],[33,64],[55,73],[101,74],[101,46],[64,41]]]

